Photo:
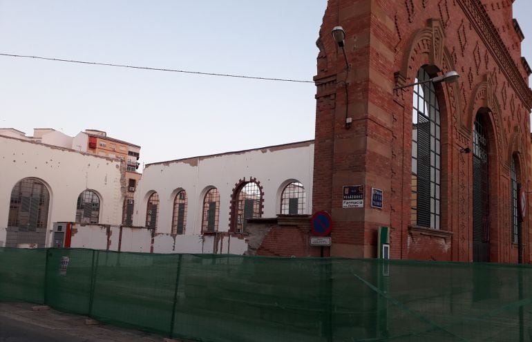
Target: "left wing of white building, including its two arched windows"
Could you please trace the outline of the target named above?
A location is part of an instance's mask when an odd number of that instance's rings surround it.
[[[53,222],[121,224],[118,159],[0,135],[0,166],[0,247],[49,246]]]

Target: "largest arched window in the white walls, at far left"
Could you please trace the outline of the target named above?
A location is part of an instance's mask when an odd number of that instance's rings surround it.
[[[36,244],[44,247],[50,193],[41,180],[24,178],[15,184],[9,204],[6,247]]]

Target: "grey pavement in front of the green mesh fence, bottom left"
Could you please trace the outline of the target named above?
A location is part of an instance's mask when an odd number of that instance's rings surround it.
[[[86,316],[32,310],[28,303],[0,303],[0,342],[162,342],[163,336],[111,325],[87,325]]]

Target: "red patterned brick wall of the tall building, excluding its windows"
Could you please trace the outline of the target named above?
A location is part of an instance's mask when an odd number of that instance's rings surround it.
[[[532,94],[520,61],[520,38],[510,25],[511,1],[482,3],[328,1],[314,77],[312,202],[313,212],[332,214],[333,256],[373,257],[377,227],[387,225],[392,258],[473,260],[472,154],[460,149],[473,147],[473,122],[480,111],[489,127],[491,261],[517,261],[511,244],[509,156],[520,153],[519,180],[530,191]],[[349,73],[330,34],[339,25],[346,34]],[[431,66],[433,76],[449,70],[460,74],[457,84],[435,86],[441,111],[441,230],[449,232],[439,236],[408,228],[412,88],[393,90],[414,82],[421,66]],[[350,129],[345,129],[346,104]],[[342,186],[354,184],[365,185],[365,208],[343,209]],[[383,189],[383,209],[370,207],[371,187]],[[529,227],[526,220],[526,261]],[[296,241],[303,240],[302,234],[294,228],[272,229],[264,243],[268,250],[281,250],[276,243],[283,236]],[[305,251],[305,246],[292,248]]]

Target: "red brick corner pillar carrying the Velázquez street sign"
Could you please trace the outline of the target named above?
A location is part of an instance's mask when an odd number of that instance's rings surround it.
[[[377,227],[390,225],[395,1],[329,0],[318,46],[313,211],[334,222],[332,256],[377,255]],[[345,53],[331,31],[342,26]],[[347,95],[345,92],[347,87]],[[352,119],[345,128],[345,117]],[[364,185],[363,208],[343,208],[343,186]],[[383,190],[383,209],[371,207],[371,188]]]

